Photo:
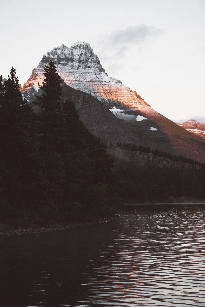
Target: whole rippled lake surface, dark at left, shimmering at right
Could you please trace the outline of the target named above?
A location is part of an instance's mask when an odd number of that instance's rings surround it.
[[[0,237],[0,306],[205,306],[204,207],[127,206],[120,214]]]

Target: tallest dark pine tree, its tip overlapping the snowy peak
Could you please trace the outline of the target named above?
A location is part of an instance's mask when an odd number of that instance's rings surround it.
[[[42,86],[41,96],[37,96],[35,102],[40,106],[38,113],[38,134],[41,140],[40,154],[44,163],[39,171],[44,174],[41,182],[43,210],[48,216],[48,212],[54,212],[56,206],[63,202],[63,180],[65,171],[63,169],[62,147],[67,147],[67,139],[64,129],[64,116],[61,96],[61,78],[56,72],[52,60],[49,66],[44,68],[45,79]],[[52,214],[52,213],[51,213]]]

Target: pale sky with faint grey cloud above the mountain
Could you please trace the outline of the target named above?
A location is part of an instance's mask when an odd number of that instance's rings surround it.
[[[0,0],[0,75],[23,85],[43,54],[86,41],[153,109],[205,122],[205,0]]]

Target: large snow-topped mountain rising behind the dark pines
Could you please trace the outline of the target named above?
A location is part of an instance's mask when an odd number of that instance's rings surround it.
[[[45,78],[43,67],[50,59],[64,80],[62,101],[71,98],[80,119],[102,140],[140,144],[205,161],[205,140],[152,109],[120,80],[109,77],[85,42],[70,48],[61,45],[43,55],[22,88],[30,103],[35,99],[38,82],[42,84]]]

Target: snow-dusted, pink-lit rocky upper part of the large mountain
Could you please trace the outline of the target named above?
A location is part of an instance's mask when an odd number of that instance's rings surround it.
[[[148,113],[152,110],[136,91],[124,86],[120,80],[109,77],[90,44],[83,41],[76,42],[70,48],[61,45],[44,54],[23,86],[25,96],[28,96],[26,91],[31,87],[38,91],[38,82],[41,84],[44,79],[43,67],[48,65],[50,59],[54,61],[57,72],[66,84],[93,95],[107,107],[130,108],[140,104],[141,107],[148,107]]]

